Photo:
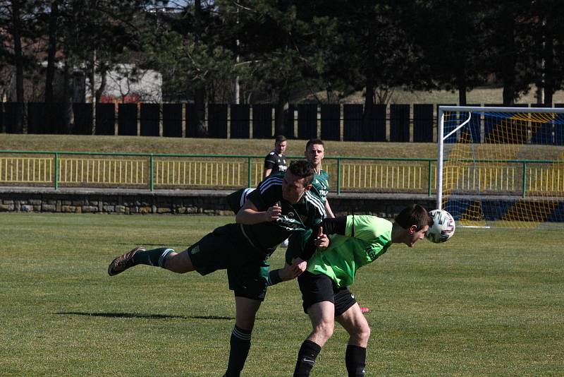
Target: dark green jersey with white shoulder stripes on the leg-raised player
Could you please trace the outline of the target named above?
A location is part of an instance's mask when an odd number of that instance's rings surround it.
[[[276,221],[261,222],[255,225],[241,225],[241,231],[252,246],[257,249],[272,249],[293,234],[302,234],[319,224],[325,217],[325,207],[317,193],[306,191],[298,203],[290,204],[282,198],[283,173],[275,173],[262,181],[256,190],[239,190],[231,194],[228,202],[233,210],[238,210],[247,200],[252,201],[257,210],[265,211],[275,203],[280,203],[281,216]],[[242,203],[243,202],[243,203]],[[300,237],[301,238],[301,237]]]

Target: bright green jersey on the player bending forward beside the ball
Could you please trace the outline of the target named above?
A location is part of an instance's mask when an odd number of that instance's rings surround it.
[[[345,236],[329,237],[329,247],[317,249],[307,270],[331,277],[337,287],[353,285],[359,268],[386,253],[392,244],[392,223],[369,215],[348,215]]]

